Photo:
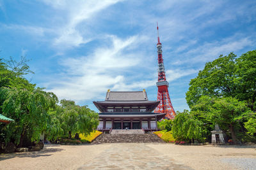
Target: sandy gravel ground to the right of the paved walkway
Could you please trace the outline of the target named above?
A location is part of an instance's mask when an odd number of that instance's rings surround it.
[[[193,169],[256,169],[256,145],[147,146]]]

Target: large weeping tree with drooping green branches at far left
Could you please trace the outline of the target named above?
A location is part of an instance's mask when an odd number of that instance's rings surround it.
[[[2,87],[0,94],[1,101],[4,101],[3,115],[15,120],[4,131],[5,142],[13,140],[21,147],[26,137],[38,141],[49,122],[47,111],[54,108],[58,98],[41,89],[29,91]]]

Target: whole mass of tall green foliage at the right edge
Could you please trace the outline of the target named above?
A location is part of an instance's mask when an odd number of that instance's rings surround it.
[[[255,134],[254,120],[250,118],[256,111],[255,75],[256,50],[253,50],[240,57],[234,53],[220,55],[207,62],[190,81],[186,100],[191,115],[204,122],[208,137],[216,123],[234,141],[241,139],[246,131]]]

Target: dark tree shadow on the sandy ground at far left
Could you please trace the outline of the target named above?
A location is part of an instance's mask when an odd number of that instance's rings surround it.
[[[31,158],[36,158],[36,157],[49,157],[54,152],[61,152],[63,149],[61,148],[44,148],[40,151],[35,151],[35,152],[21,152],[21,153],[6,153],[3,155],[0,155],[0,161],[1,160],[6,160],[6,159],[12,159],[15,157],[31,157]],[[48,153],[48,154],[47,154]]]

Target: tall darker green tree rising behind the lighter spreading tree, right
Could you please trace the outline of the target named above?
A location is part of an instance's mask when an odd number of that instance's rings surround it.
[[[236,55],[230,53],[212,62],[207,62],[198,76],[189,83],[189,90],[186,92],[186,100],[191,108],[201,96],[210,97],[234,97],[236,86],[234,74],[236,71]]]

